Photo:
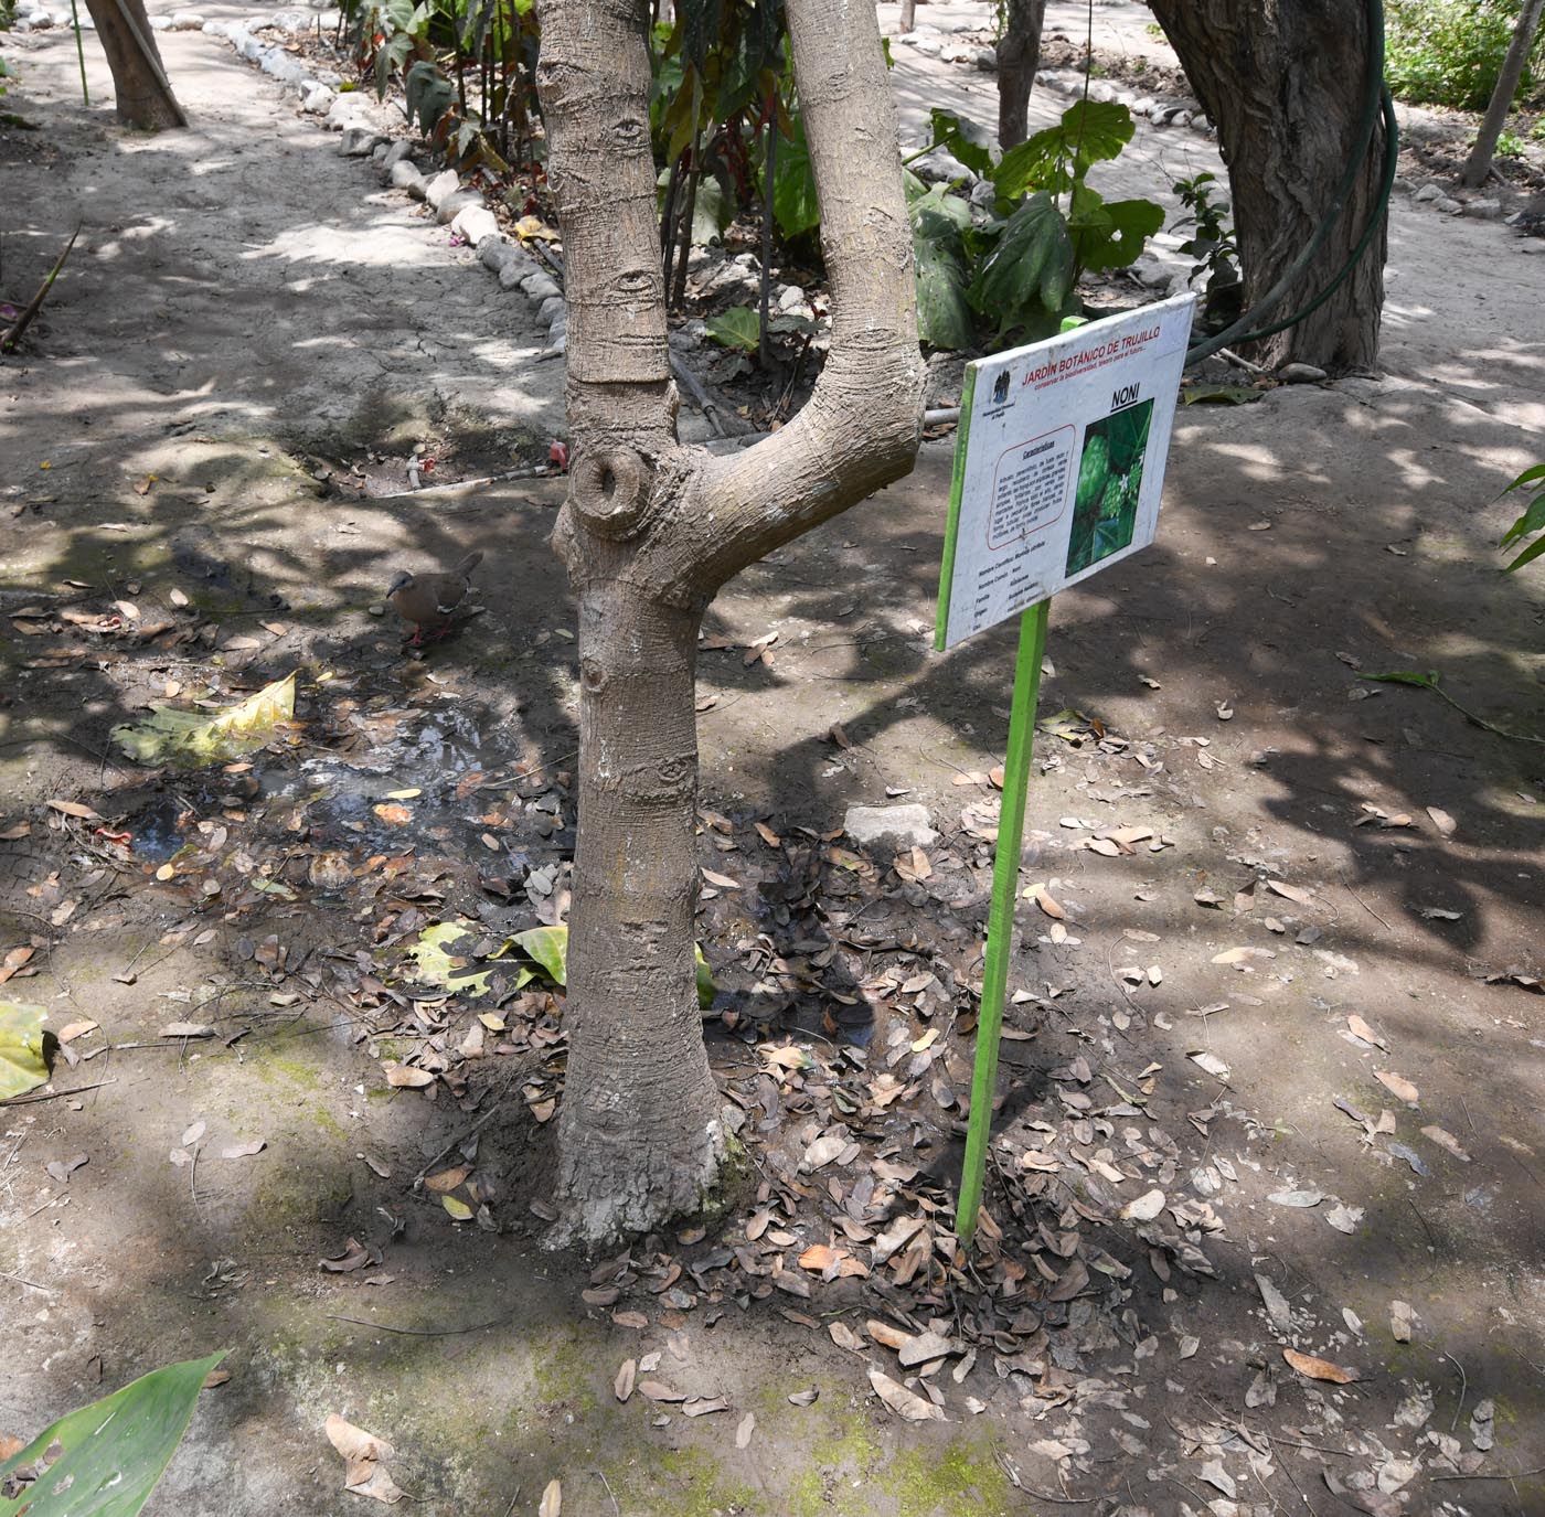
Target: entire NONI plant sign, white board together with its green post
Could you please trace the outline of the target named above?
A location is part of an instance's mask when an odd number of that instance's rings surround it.
[[[1177,295],[966,366],[935,647],[1020,618],[955,1214],[967,1245],[992,1137],[1046,618],[1058,590],[1154,539],[1194,304],[1194,295]]]

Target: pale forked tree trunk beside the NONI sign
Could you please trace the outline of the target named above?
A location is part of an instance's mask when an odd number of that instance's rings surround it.
[[[746,564],[912,468],[922,366],[896,113],[873,6],[788,0],[831,352],[805,409],[684,448],[666,349],[643,0],[538,0],[564,235],[573,467],[553,545],[579,601],[579,837],[555,1242],[698,1206],[726,1151],[695,1003],[694,650]]]

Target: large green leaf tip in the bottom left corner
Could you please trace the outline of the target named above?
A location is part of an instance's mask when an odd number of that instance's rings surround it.
[[[0,1481],[36,1468],[56,1443],[60,1454],[20,1495],[0,1497],[0,1517],[136,1517],[187,1432],[204,1376],[226,1352],[151,1370],[45,1427],[0,1464]]]

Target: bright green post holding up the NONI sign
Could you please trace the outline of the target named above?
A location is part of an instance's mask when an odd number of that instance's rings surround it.
[[[1031,786],[1031,746],[1035,740],[1035,701],[1041,692],[1046,618],[1051,599],[1020,616],[1020,655],[1014,666],[1014,708],[1009,714],[1009,754],[1003,765],[1003,809],[998,851],[992,860],[992,908],[987,915],[987,961],[981,975],[981,1012],[976,1018],[976,1066],[970,1080],[970,1118],[966,1128],[966,1171],[955,1208],[955,1234],[969,1244],[976,1233],[981,1180],[992,1135],[992,1098],[998,1086],[998,1043],[1003,1003],[1014,955],[1014,907],[1020,898],[1020,850],[1024,842],[1024,797]]]

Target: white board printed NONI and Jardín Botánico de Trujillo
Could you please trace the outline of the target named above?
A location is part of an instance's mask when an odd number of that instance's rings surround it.
[[[1194,295],[966,366],[936,647],[1148,547]]]

